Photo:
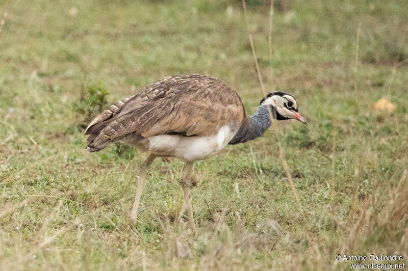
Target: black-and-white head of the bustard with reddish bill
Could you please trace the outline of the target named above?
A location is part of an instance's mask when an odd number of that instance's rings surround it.
[[[277,120],[295,119],[307,124],[306,119],[297,112],[297,103],[292,95],[282,91],[274,91],[268,93],[266,99],[264,97],[261,100],[260,105],[263,104],[270,106],[272,114]]]

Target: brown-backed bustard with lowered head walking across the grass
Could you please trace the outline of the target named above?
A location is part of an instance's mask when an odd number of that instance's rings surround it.
[[[190,195],[194,161],[213,156],[228,144],[261,137],[271,125],[271,117],[296,119],[307,124],[298,113],[295,98],[285,92],[268,93],[257,112],[248,116],[238,93],[222,79],[199,74],[168,76],[112,104],[96,116],[85,130],[86,149],[96,152],[119,141],[149,153],[140,166],[130,214],[135,224],[152,162],[157,157],[184,160],[180,179],[184,192],[183,210],[187,209],[190,228],[195,235]]]

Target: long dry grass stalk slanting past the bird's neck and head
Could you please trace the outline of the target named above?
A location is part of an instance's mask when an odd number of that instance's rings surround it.
[[[248,14],[247,14],[247,9],[246,9],[246,3],[245,3],[244,0],[242,0],[242,5],[243,5],[243,8],[244,8],[244,15],[245,15],[246,25],[247,25],[247,29],[248,29],[249,43],[251,45],[253,59],[255,61],[255,66],[257,68],[259,83],[261,84],[262,92],[264,94],[264,97],[266,98],[266,91],[265,91],[264,83],[263,83],[263,80],[262,80],[262,75],[261,75],[259,64],[258,64],[257,54],[255,52],[255,47],[253,45],[253,39],[252,39],[251,31],[249,29]],[[271,16],[272,16],[272,14],[273,13],[271,13]],[[270,116],[271,120],[273,120],[272,112],[269,110],[269,107],[268,107],[268,111],[269,111],[269,116]],[[293,183],[293,180],[292,180],[292,175],[290,174],[288,162],[285,159],[285,155],[284,155],[284,152],[283,152],[283,149],[282,149],[281,141],[279,140],[279,134],[277,132],[277,129],[273,129],[273,131],[275,133],[276,140],[277,140],[278,146],[279,146],[279,157],[281,158],[282,165],[284,166],[285,173],[286,173],[286,176],[287,176],[287,178],[289,180],[289,184],[290,184],[290,187],[292,189],[293,196],[295,197],[296,203],[298,205],[299,211],[303,215],[303,213],[304,213],[303,208],[302,208],[302,205],[300,204],[299,196],[297,195],[295,184]]]

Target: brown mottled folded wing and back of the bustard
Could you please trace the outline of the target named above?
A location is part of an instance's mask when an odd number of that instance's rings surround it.
[[[224,125],[240,125],[245,116],[235,90],[221,79],[201,75],[163,78],[118,103],[87,128],[90,151],[103,149],[130,133],[135,137],[166,133],[210,136]]]

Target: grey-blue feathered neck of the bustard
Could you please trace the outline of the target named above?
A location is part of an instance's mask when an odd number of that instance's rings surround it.
[[[272,106],[269,108],[273,118],[276,118],[274,108]],[[234,145],[259,138],[269,128],[271,123],[268,105],[262,104],[258,107],[257,113],[249,117],[249,122],[241,125],[235,137],[228,144]]]

